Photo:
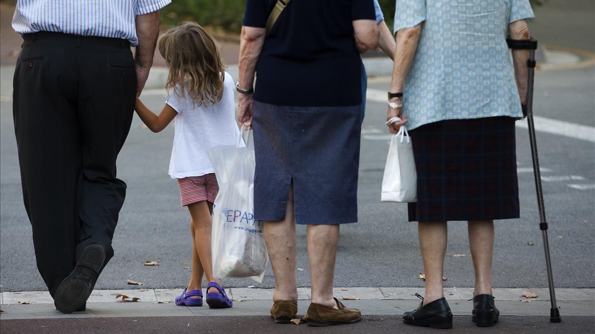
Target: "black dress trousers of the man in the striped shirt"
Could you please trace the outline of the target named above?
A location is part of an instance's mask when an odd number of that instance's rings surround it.
[[[121,39],[24,35],[13,113],[37,268],[53,296],[89,244],[106,263],[126,184],[116,158],[130,130],[136,70]]]

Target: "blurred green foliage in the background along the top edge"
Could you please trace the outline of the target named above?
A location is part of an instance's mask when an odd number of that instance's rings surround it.
[[[536,6],[546,0],[530,1]],[[392,29],[395,0],[379,2],[386,23]],[[161,10],[161,19],[167,26],[175,26],[182,21],[196,21],[215,33],[240,33],[245,5],[246,0],[173,0]]]

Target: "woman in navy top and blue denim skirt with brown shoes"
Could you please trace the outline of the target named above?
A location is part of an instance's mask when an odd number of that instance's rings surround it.
[[[374,4],[292,1],[267,33],[276,2],[246,2],[237,84],[239,121],[254,129],[254,213],[275,275],[271,315],[289,323],[297,313],[298,223],[308,225],[308,324],[356,322],[361,313],[333,298],[333,276],[339,225],[358,220],[358,51],[377,45]]]

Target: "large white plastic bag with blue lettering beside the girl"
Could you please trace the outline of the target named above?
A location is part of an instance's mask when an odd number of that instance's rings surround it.
[[[242,130],[236,146],[209,150],[219,193],[212,216],[212,260],[216,278],[250,277],[262,282],[268,263],[262,224],[254,219],[254,140]]]

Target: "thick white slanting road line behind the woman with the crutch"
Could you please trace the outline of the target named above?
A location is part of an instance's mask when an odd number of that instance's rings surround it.
[[[387,103],[386,92],[380,89],[368,88],[366,99],[374,102]],[[533,116],[533,119],[535,121],[535,130],[537,131],[595,143],[595,127],[541,116]],[[527,120],[517,121],[516,127],[526,129],[528,127]]]

